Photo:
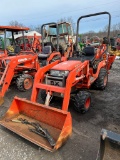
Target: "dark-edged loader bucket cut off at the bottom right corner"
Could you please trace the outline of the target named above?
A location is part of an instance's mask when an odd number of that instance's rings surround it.
[[[120,135],[102,129],[100,160],[120,160]]]

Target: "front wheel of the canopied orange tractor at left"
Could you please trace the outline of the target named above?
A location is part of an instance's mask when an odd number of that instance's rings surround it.
[[[22,74],[17,78],[16,85],[19,91],[30,90],[33,86],[33,77],[29,74]]]

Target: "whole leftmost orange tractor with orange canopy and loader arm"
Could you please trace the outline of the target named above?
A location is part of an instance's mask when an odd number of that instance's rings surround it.
[[[29,90],[33,85],[33,77],[40,68],[37,54],[26,50],[24,32],[28,30],[26,27],[0,26],[1,34],[4,34],[4,45],[0,49],[0,104],[12,82],[16,83],[20,91]],[[15,40],[16,32],[22,32],[22,50]],[[8,39],[8,34],[12,38]]]

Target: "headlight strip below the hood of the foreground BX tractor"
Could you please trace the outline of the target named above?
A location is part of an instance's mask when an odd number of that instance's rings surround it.
[[[51,76],[58,76],[58,77],[63,77],[63,76],[68,76],[69,71],[58,71],[58,70],[50,70],[50,75]]]

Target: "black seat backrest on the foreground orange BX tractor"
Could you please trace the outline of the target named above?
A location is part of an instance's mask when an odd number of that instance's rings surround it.
[[[94,47],[87,46],[83,49],[84,55],[85,56],[94,56],[96,51]]]

